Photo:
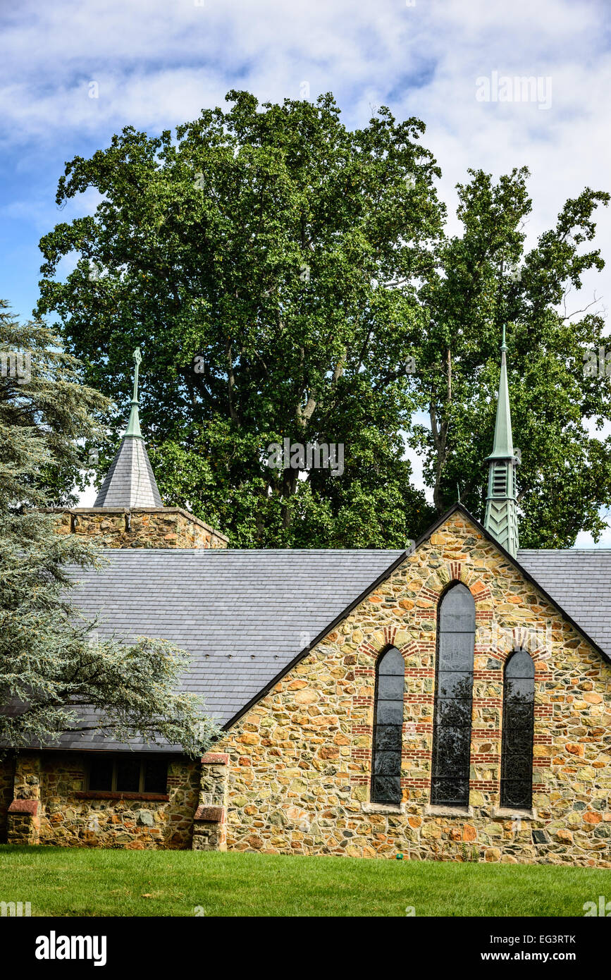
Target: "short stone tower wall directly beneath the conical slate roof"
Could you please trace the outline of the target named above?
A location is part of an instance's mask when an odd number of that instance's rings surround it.
[[[105,548],[226,548],[228,539],[178,507],[72,508],[57,514],[58,534],[81,534]]]

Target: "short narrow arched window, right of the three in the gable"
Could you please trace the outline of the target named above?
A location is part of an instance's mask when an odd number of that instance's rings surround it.
[[[535,663],[526,650],[515,650],[505,663],[500,806],[533,806],[535,734]]]

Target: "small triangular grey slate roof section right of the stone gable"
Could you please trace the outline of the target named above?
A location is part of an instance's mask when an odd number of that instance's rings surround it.
[[[611,548],[522,548],[518,562],[611,657]]]

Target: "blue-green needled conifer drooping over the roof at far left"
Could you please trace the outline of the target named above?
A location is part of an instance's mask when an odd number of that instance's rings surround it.
[[[19,355],[19,357],[18,357]],[[95,728],[201,751],[216,733],[199,700],[180,690],[188,657],[164,640],[97,635],[71,595],[79,568],[103,557],[54,515],[79,442],[97,437],[106,400],[41,323],[21,324],[0,301],[0,745],[52,744]],[[80,720],[80,709],[95,719]]]

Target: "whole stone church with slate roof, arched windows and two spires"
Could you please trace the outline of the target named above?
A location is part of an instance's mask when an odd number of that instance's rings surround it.
[[[501,352],[484,525],[457,503],[405,551],[228,548],[164,507],[136,383],[95,506],[57,514],[109,549],[75,601],[188,650],[223,734],[20,752],[4,839],[610,867],[611,551],[519,548]]]

